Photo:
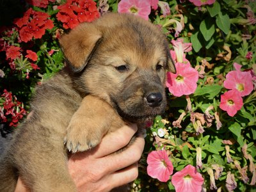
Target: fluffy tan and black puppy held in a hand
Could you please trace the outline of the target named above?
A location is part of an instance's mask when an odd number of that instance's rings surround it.
[[[60,44],[67,65],[36,89],[31,116],[1,158],[0,191],[14,191],[19,175],[32,191],[76,191],[67,150],[95,147],[104,134],[166,107],[166,70],[175,67],[165,36],[150,22],[108,13]]]

